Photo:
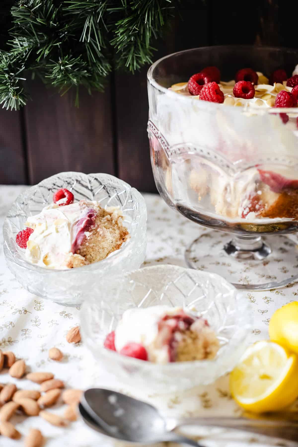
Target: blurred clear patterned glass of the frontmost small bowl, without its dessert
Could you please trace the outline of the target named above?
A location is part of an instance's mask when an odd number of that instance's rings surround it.
[[[160,304],[201,314],[219,341],[215,358],[157,364],[103,346],[106,335],[116,328],[127,309]],[[113,283],[103,279],[83,305],[80,318],[84,344],[97,363],[112,378],[116,376],[119,386],[146,389],[152,394],[209,384],[231,371],[248,342],[252,309],[248,299],[217,274],[159,265],[115,277]],[[101,369],[93,370],[92,385],[99,386]]]

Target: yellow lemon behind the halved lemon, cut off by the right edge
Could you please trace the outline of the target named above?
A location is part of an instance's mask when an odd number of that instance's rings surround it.
[[[298,302],[285,304],[274,312],[269,323],[269,336],[298,354]]]

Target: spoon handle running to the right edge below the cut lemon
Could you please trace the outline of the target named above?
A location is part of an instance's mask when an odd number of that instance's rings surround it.
[[[288,441],[297,441],[298,439],[297,420],[290,421],[285,418],[189,417],[177,419],[175,422],[173,424],[175,428],[183,425],[214,426],[249,431],[273,438],[286,439]]]

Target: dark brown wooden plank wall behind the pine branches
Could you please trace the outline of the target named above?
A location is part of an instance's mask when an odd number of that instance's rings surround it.
[[[181,17],[156,43],[155,59],[215,44],[298,45],[294,2],[183,0],[181,5]],[[0,110],[0,183],[32,185],[74,170],[111,173],[139,190],[155,191],[146,130],[147,69],[134,76],[113,73],[105,93],[89,96],[82,90],[79,109],[71,94],[60,97],[38,80],[28,81],[32,101],[18,112]]]

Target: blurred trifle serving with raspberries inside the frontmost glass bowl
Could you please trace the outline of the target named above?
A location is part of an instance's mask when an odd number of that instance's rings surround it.
[[[127,310],[112,334],[106,337],[106,348],[153,363],[211,359],[219,348],[206,320],[164,305]]]

